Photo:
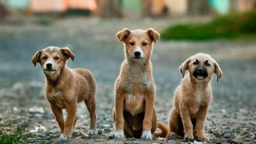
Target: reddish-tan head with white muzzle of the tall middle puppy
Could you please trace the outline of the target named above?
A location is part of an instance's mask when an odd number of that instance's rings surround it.
[[[116,33],[120,42],[125,45],[125,58],[132,61],[147,60],[151,56],[153,42],[159,40],[159,33],[150,28],[147,30],[136,29],[123,29]]]

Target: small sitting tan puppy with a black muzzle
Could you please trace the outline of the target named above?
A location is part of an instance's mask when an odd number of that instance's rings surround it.
[[[197,138],[207,141],[205,120],[212,101],[211,79],[216,74],[219,81],[222,76],[221,68],[208,54],[198,53],[184,61],[179,69],[182,77],[186,70],[189,74],[174,92],[174,107],[169,117],[170,129],[159,124],[163,131],[159,136],[184,136],[188,140]]]

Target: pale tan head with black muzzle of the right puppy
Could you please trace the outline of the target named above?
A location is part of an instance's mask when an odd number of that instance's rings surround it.
[[[188,58],[180,65],[182,77],[186,70],[189,71],[189,76],[196,81],[210,81],[212,74],[216,74],[217,81],[219,81],[222,76],[220,66],[208,54],[198,53]]]

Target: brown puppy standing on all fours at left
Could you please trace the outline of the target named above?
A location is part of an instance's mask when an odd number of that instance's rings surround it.
[[[35,53],[32,58],[33,64],[40,63],[46,77],[45,97],[51,105],[60,129],[61,139],[71,138],[76,125],[77,103],[84,101],[90,113],[89,134],[96,131],[96,102],[95,102],[95,79],[92,73],[86,69],[70,69],[66,61],[74,54],[68,47],[46,47]],[[67,111],[67,119],[64,121],[62,109]]]

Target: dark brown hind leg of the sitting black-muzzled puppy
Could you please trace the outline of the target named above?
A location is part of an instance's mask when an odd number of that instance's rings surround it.
[[[172,135],[178,135],[182,136],[181,131],[182,127],[180,127],[180,115],[178,115],[174,108],[170,111],[170,117],[169,117],[169,126],[170,126],[170,134]]]

